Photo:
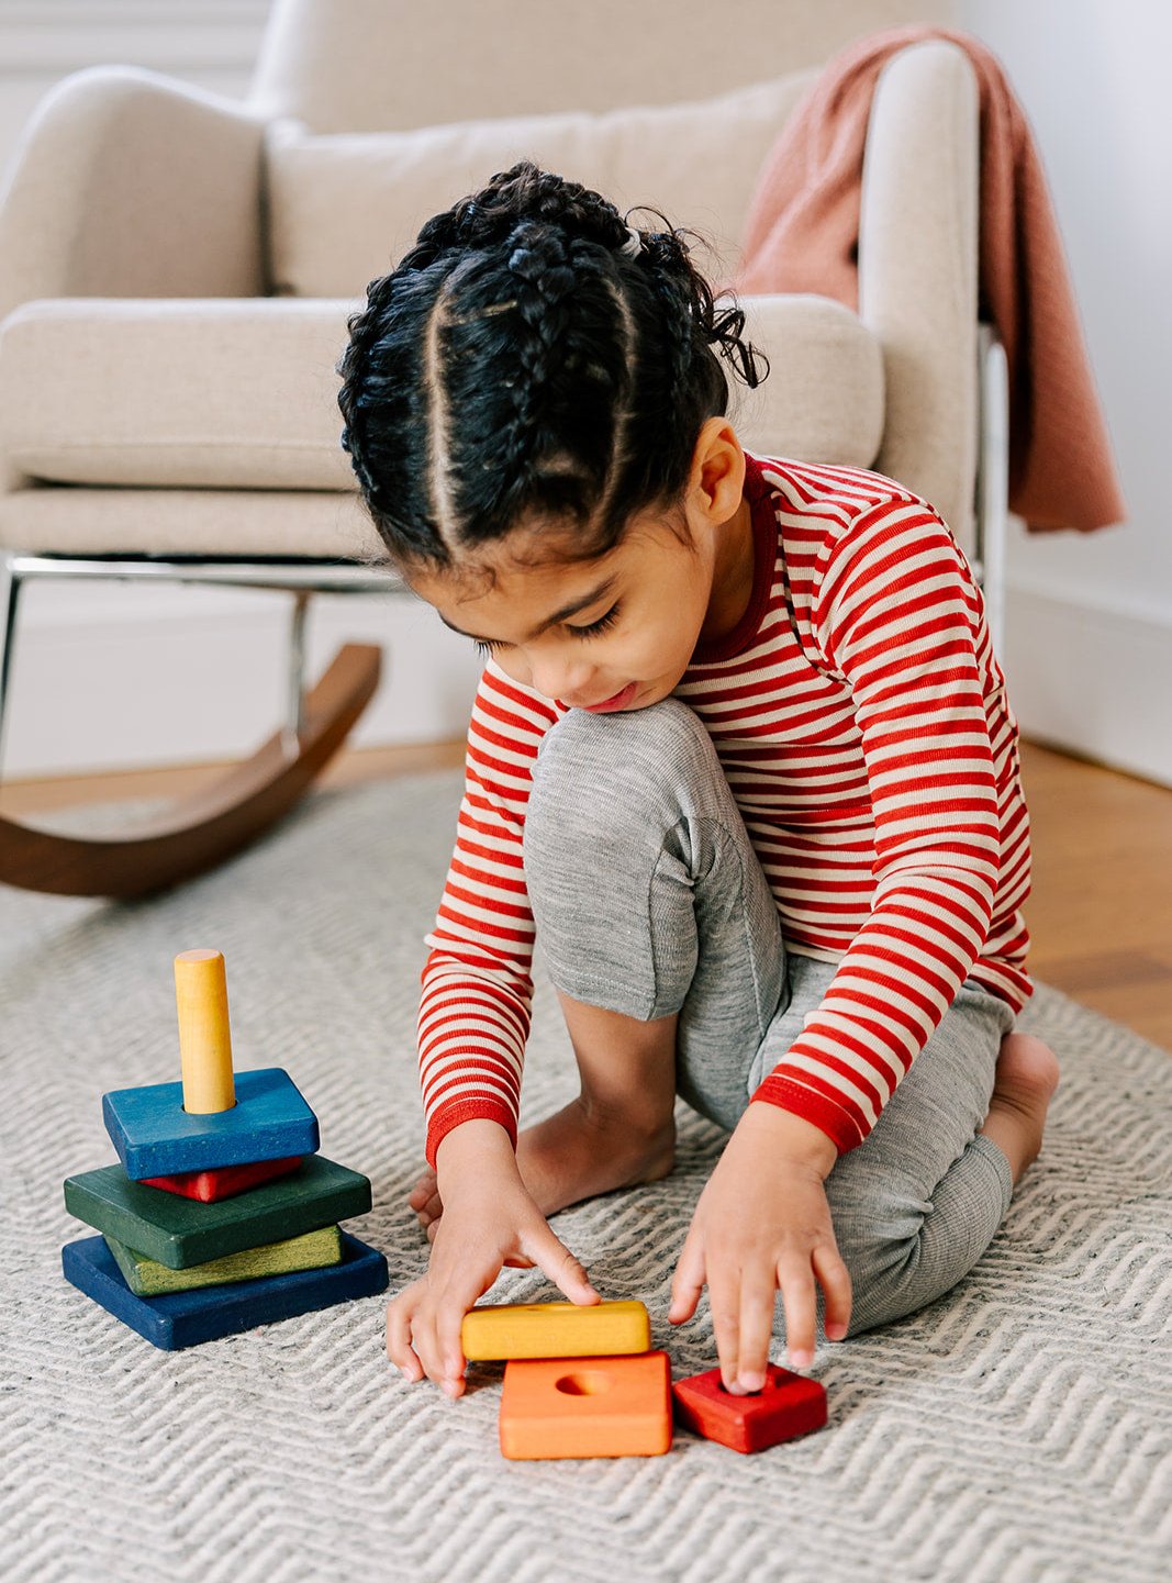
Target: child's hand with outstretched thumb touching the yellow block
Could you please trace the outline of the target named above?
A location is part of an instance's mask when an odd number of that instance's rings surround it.
[[[448,1396],[464,1390],[464,1314],[500,1268],[537,1265],[572,1303],[600,1296],[569,1247],[550,1230],[496,1121],[466,1121],[436,1152],[443,1200],[428,1273],[386,1309],[386,1355],[410,1380],[426,1374]]]

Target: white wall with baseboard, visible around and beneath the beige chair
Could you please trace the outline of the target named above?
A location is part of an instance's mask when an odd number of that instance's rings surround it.
[[[0,161],[40,95],[82,65],[131,62],[242,93],[266,9],[264,0],[0,0]],[[1172,526],[1161,499],[1172,407],[1162,81],[1172,6],[960,0],[958,13],[1004,62],[1034,128],[1131,510],[1126,527],[1094,535],[1031,537],[1014,526],[1010,693],[1034,738],[1172,785]],[[283,621],[276,597],[30,589],[6,773],[247,749],[280,708]],[[391,671],[358,742],[462,730],[475,673],[467,644],[412,606],[317,600],[310,663],[348,636],[385,641]],[[244,673],[249,689],[236,685]],[[95,687],[108,706],[95,704]]]

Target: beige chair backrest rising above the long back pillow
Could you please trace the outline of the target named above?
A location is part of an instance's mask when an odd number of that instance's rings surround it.
[[[673,104],[949,21],[949,0],[274,0],[250,103],[312,131]]]

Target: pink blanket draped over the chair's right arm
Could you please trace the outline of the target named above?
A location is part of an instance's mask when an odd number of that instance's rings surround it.
[[[890,55],[927,38],[960,44],[980,89],[979,299],[1009,361],[1009,507],[1034,530],[1118,522],[1126,508],[1045,174],[1022,106],[985,44],[946,28],[906,27],[836,55],[765,161],[733,287],[812,291],[857,307],[871,97]]]

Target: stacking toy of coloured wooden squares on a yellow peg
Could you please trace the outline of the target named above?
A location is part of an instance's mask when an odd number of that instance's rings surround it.
[[[223,956],[174,974],[182,1081],[103,1097],[122,1164],[65,1183],[101,1233],[62,1249],[65,1277],[165,1350],[383,1292],[383,1255],[337,1224],[371,1208],[369,1179],[317,1152],[287,1072],[233,1073]]]

